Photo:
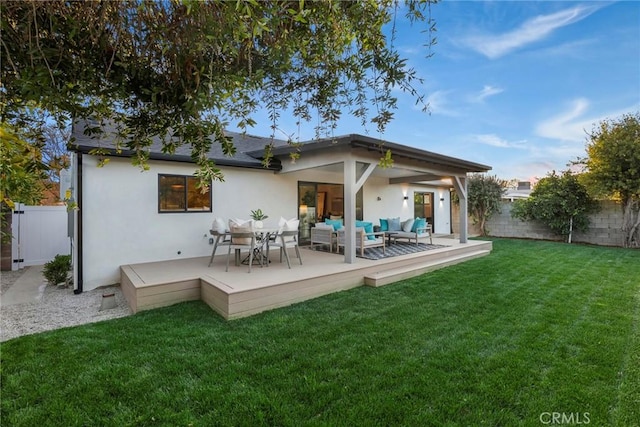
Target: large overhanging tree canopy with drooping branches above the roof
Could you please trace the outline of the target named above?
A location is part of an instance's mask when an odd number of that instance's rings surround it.
[[[167,153],[188,144],[205,184],[222,178],[212,143],[232,155],[224,128],[246,130],[261,108],[272,137],[287,108],[299,122],[317,114],[318,135],[331,135],[343,110],[382,132],[394,91],[422,102],[395,31],[383,30],[403,10],[435,31],[435,0],[398,1],[2,2],[2,120],[27,123],[36,103],[58,123],[97,120],[88,133],[109,121],[118,149],[143,168],[152,138]]]

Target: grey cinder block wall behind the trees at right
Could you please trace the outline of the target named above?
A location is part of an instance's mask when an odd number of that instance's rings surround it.
[[[523,239],[558,240],[562,238],[554,235],[542,223],[527,221],[511,217],[512,203],[505,201],[502,204],[502,211],[495,214],[487,223],[489,235],[494,237],[515,237]],[[459,230],[457,218],[458,208],[454,205],[454,232]],[[573,242],[588,243],[601,246],[622,246],[624,241],[622,235],[622,207],[613,201],[600,202],[600,211],[590,216],[591,224],[585,233],[575,232]],[[479,234],[477,226],[472,226],[469,219],[469,234]]]

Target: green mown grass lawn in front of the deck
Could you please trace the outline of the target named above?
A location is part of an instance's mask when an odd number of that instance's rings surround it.
[[[640,251],[496,240],[246,319],[194,302],[20,337],[1,362],[3,426],[637,426]]]

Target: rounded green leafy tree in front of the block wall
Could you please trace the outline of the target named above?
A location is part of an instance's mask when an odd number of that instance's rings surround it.
[[[513,202],[511,216],[522,221],[541,221],[571,243],[574,230],[589,228],[588,215],[596,209],[596,201],[577,175],[570,171],[558,175],[553,171],[538,181],[529,198]]]

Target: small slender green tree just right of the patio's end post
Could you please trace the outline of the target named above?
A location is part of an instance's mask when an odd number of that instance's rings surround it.
[[[500,212],[506,182],[496,176],[473,174],[467,180],[467,208],[474,224],[480,224],[480,233],[488,234],[487,221]]]

